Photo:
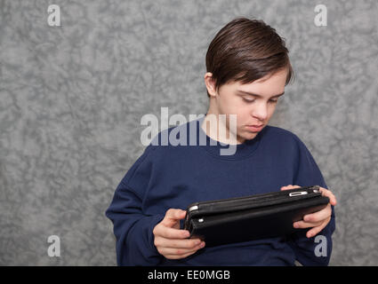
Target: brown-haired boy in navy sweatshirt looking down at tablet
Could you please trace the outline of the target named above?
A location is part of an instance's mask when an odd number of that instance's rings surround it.
[[[117,237],[117,264],[294,265],[295,260],[302,265],[328,264],[334,194],[326,189],[300,138],[268,125],[293,76],[285,41],[261,20],[237,18],[214,37],[206,53],[206,70],[210,105],[205,116],[161,131],[117,187],[106,212]],[[220,119],[221,114],[226,120]],[[229,127],[230,114],[237,115],[236,127]],[[207,123],[211,117],[218,124]],[[221,133],[221,127],[227,131]],[[173,130],[188,143],[161,146],[162,138]],[[193,133],[197,146],[190,146]],[[205,137],[205,145],[200,145],[200,137]],[[228,145],[230,140],[235,145]],[[229,146],[236,147],[235,153],[221,154]],[[192,202],[308,185],[320,185],[330,203],[294,223],[302,230],[290,238],[206,248],[204,241],[189,239],[189,232],[182,229],[185,209]],[[323,251],[317,253],[320,241]]]

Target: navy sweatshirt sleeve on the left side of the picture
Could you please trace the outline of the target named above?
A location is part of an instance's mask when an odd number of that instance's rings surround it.
[[[157,265],[163,257],[154,245],[152,231],[165,215],[147,215],[142,210],[152,170],[152,151],[148,146],[127,171],[106,211],[114,225],[117,265]]]

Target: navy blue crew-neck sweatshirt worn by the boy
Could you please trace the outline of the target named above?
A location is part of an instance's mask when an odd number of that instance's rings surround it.
[[[279,191],[284,185],[327,188],[317,163],[294,133],[267,125],[255,138],[238,144],[235,154],[224,155],[220,150],[229,146],[205,134],[200,127],[204,118],[161,131],[117,186],[106,211],[117,238],[117,264],[294,265],[297,260],[302,265],[327,265],[335,228],[334,207],[331,221],[318,233],[326,237],[326,256],[315,254],[320,242],[316,242],[316,237],[306,237],[309,229],[299,230],[290,239],[200,248],[178,260],[158,253],[152,231],[167,209],[186,209],[195,201]],[[193,126],[196,131],[190,132]],[[194,141],[192,133],[196,133],[197,146],[189,145]],[[171,134],[186,139],[186,145],[182,142],[172,145],[170,140],[167,146],[162,146],[164,137]],[[205,137],[205,145],[199,145],[200,137]],[[181,229],[182,225],[183,221]]]

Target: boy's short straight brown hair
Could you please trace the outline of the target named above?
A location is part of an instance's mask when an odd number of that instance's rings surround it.
[[[237,18],[221,28],[206,53],[206,70],[215,89],[229,81],[253,83],[287,68],[286,84],[294,78],[285,39],[262,20]],[[207,96],[210,98],[209,92]]]

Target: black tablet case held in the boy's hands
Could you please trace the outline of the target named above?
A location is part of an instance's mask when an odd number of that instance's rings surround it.
[[[216,201],[191,203],[184,229],[206,247],[289,236],[301,229],[293,223],[324,209],[329,199],[318,185]]]

